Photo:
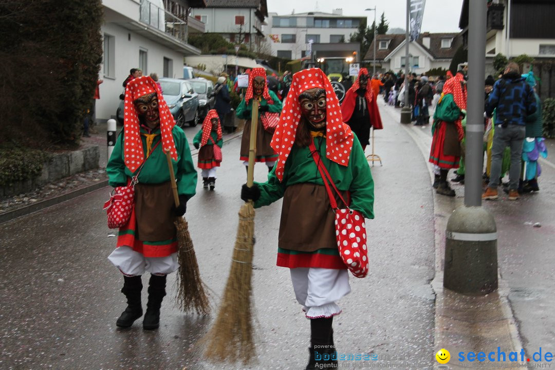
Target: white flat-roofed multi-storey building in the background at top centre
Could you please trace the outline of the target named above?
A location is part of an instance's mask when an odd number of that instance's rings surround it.
[[[357,32],[362,22],[366,22],[366,17],[343,16],[342,9],[334,9],[332,13],[308,12],[286,16],[269,13],[268,26],[264,27],[264,33],[272,41],[272,55],[300,59],[307,55],[309,40],[313,44],[348,43],[351,34]],[[321,45],[319,48],[323,52],[326,46]],[[337,47],[327,49],[333,52]],[[329,55],[331,54],[325,56]]]

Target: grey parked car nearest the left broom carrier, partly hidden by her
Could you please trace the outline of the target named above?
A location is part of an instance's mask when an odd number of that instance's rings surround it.
[[[178,78],[160,78],[164,100],[168,104],[175,123],[183,127],[189,123],[194,127],[199,123],[199,94],[188,80]]]

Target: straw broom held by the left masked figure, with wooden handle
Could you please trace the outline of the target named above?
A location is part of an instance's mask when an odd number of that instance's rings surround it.
[[[177,183],[169,150],[166,151],[168,159],[168,169],[170,171],[171,190],[175,206],[179,206],[179,196],[177,194]],[[189,225],[183,217],[176,217],[174,225],[177,229],[178,239],[178,262],[179,272],[177,274],[178,289],[176,293],[176,305],[183,312],[196,311],[199,315],[208,315],[210,306],[208,296],[204,292],[204,283],[200,279],[199,265],[196,262],[193,240],[189,234]]]

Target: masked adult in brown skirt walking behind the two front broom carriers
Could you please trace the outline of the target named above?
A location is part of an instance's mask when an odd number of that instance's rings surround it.
[[[246,90],[245,98],[241,100],[237,107],[237,117],[246,119],[245,128],[243,129],[243,138],[241,139],[241,156],[245,166],[249,164],[249,146],[250,146],[250,123],[253,111],[253,99],[258,99],[260,106],[258,108],[258,128],[256,129],[256,161],[265,162],[270,171],[275,164],[278,155],[270,146],[270,141],[274,135],[273,131],[265,130],[260,115],[264,112],[279,113],[281,111],[281,102],[273,91],[268,90],[266,84],[266,71],[264,68],[253,68],[249,73],[249,87]]]

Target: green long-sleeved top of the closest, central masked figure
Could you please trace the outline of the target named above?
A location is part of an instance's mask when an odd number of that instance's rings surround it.
[[[326,158],[325,138],[315,138],[316,149],[320,153],[322,163],[326,166],[335,186],[341,191],[351,192],[351,209],[360,211],[367,219],[374,218],[374,180],[370,167],[362,150],[359,140],[354,137],[348,166],[341,166]],[[287,186],[313,183],[324,185],[320,172],[316,167],[310,149],[293,145],[289,157],[285,162],[283,181],[278,180],[275,170],[268,175],[266,183],[257,183],[260,198],[255,207],[269,205],[283,197]]]

